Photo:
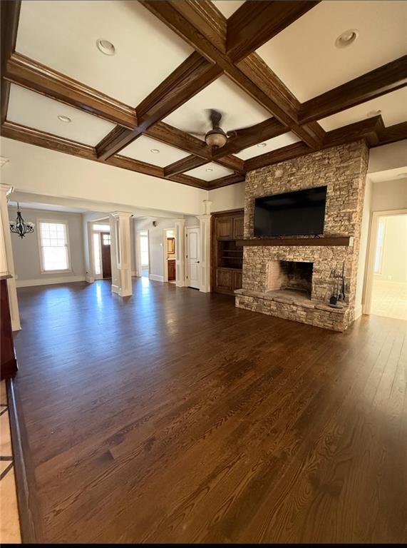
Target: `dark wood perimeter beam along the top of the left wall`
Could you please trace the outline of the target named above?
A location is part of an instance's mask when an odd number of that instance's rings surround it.
[[[117,168],[128,169],[137,173],[143,173],[144,175],[168,179],[169,181],[175,181],[177,183],[207,190],[207,181],[202,181],[201,179],[187,176],[180,176],[175,180],[173,177],[166,177],[164,174],[164,169],[159,166],[153,166],[152,164],[133,160],[133,158],[126,158],[125,156],[115,155],[108,158],[108,161],[102,162],[96,156],[96,149],[93,146],[83,145],[82,143],[77,143],[76,141],[71,141],[51,133],[28,128],[26,126],[21,126],[13,122],[5,121],[1,125],[1,136],[14,139],[15,141],[22,141],[23,143],[29,143],[30,145],[48,148],[48,150],[51,151],[63,152],[70,154],[71,156],[77,156],[78,158],[86,158],[86,160],[107,163],[108,165],[115,166]]]

